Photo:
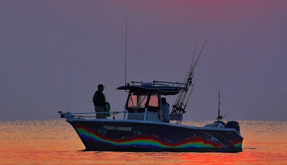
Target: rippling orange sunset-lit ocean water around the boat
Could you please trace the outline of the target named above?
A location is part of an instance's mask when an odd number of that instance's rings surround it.
[[[210,122],[182,124],[203,126]],[[0,121],[0,164],[287,165],[287,121],[238,122],[245,138],[239,153],[122,153],[82,151],[84,145],[64,119]]]

